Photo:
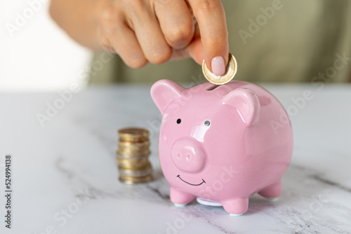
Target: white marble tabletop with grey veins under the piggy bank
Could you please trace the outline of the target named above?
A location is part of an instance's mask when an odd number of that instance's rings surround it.
[[[293,115],[293,159],[279,200],[253,195],[239,217],[196,201],[171,204],[150,85],[90,87],[64,104],[58,93],[2,93],[0,233],[351,233],[351,85],[264,87]],[[291,98],[306,90],[313,98],[298,108]],[[37,113],[54,102],[62,109],[41,128]],[[128,126],[151,131],[155,180],[148,184],[117,180],[116,131]],[[7,153],[11,229],[4,222]]]

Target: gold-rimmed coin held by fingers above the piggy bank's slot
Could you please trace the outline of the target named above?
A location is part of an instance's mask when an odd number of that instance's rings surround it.
[[[235,60],[235,57],[229,53],[229,62],[225,68],[225,74],[223,76],[216,76],[210,70],[208,70],[204,60],[204,62],[202,62],[202,72],[204,73],[207,81],[210,81],[215,85],[224,85],[232,81],[235,74],[237,74],[237,60]]]

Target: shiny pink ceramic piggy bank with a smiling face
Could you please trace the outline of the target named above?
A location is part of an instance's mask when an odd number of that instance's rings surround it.
[[[222,205],[244,214],[249,197],[277,198],[293,152],[293,132],[282,104],[264,88],[234,81],[185,89],[152,85],[162,114],[159,160],[171,202]]]

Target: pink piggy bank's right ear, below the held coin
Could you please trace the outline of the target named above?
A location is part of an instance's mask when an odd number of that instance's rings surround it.
[[[256,122],[260,112],[260,101],[255,92],[248,88],[237,88],[225,95],[222,99],[223,104],[233,106],[239,115],[250,126]]]

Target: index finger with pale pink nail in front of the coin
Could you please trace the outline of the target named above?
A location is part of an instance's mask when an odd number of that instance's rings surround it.
[[[204,60],[217,76],[225,74],[229,44],[225,11],[220,0],[188,0],[199,24]]]

